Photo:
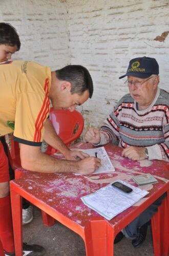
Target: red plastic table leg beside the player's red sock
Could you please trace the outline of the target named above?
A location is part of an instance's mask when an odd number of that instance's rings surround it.
[[[22,197],[12,190],[11,184],[11,206],[13,231],[15,242],[15,255],[23,256],[23,232],[22,232]]]

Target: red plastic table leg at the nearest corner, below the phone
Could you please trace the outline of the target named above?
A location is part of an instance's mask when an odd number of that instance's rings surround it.
[[[107,221],[91,221],[83,240],[87,256],[113,256],[113,231]]]

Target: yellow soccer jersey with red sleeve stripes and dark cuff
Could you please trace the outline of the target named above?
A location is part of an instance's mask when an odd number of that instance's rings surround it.
[[[39,146],[48,117],[51,69],[32,61],[0,64],[0,136],[14,131],[20,143]]]

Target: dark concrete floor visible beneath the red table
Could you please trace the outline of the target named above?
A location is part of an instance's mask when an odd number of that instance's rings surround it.
[[[39,209],[33,209],[33,220],[23,227],[24,242],[36,243],[46,248],[45,256],[86,256],[82,238],[56,221],[53,227],[45,227]],[[104,256],[104,255],[100,255]],[[114,256],[154,256],[150,228],[146,241],[135,249],[131,241],[123,238],[114,248]]]

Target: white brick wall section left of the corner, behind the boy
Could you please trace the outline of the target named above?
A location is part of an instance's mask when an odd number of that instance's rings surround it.
[[[34,60],[52,70],[70,62],[67,10],[55,0],[1,0],[0,20],[18,31],[22,46],[13,59]]]

